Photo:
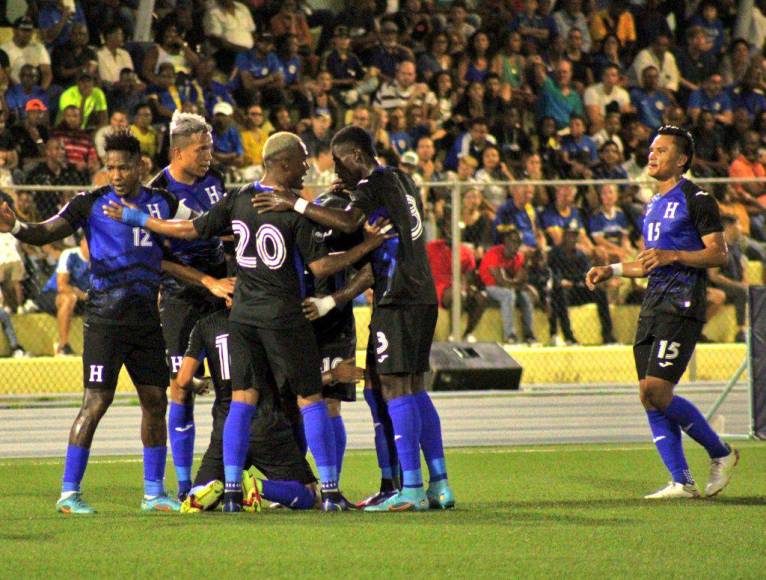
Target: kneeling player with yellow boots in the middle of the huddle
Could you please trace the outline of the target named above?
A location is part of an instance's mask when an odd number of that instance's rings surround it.
[[[211,509],[223,492],[223,426],[231,404],[229,352],[226,310],[209,314],[194,325],[176,382],[181,389],[189,389],[197,369],[207,358],[215,387],[215,402],[210,444],[194,478],[194,487],[181,507],[182,512]],[[322,382],[353,384],[363,377],[362,369],[342,363],[322,373]],[[316,478],[281,407],[276,390],[261,391],[258,410],[250,426],[245,466],[255,466],[268,479],[256,480],[250,473],[244,475],[243,488],[249,493],[245,493],[243,503],[253,511],[259,507],[259,497],[293,509],[311,509],[316,504],[317,496],[312,489]]]

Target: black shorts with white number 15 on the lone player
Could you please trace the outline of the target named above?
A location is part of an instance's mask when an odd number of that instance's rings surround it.
[[[686,370],[704,322],[663,314],[638,319],[633,358],[638,380],[657,377],[673,384]]]

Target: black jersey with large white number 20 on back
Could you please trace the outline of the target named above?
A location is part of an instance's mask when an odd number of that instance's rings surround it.
[[[305,325],[303,270],[326,255],[310,221],[295,212],[259,214],[252,197],[268,191],[256,182],[230,193],[194,220],[203,239],[231,229],[237,239],[237,283],[229,320],[260,328]]]

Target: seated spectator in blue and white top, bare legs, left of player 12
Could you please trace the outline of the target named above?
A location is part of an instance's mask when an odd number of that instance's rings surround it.
[[[56,317],[59,336],[53,345],[55,356],[75,354],[69,344],[69,332],[74,315],[84,310],[89,288],[90,254],[83,236],[79,246],[61,252],[56,271],[35,301],[40,310]]]

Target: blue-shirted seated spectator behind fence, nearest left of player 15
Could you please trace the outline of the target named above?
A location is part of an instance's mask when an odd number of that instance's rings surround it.
[[[596,248],[602,250],[607,263],[627,262],[634,250],[628,235],[630,224],[617,201],[617,186],[599,186],[600,207],[590,218],[590,235]]]

